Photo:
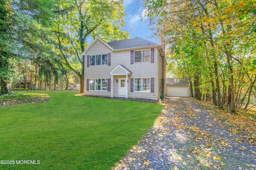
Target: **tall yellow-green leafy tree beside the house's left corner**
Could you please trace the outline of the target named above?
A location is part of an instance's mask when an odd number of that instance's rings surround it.
[[[80,78],[80,93],[84,93],[84,57],[81,53],[92,39],[105,41],[128,38],[124,27],[124,6],[120,0],[59,1],[59,18],[54,32],[63,61]],[[76,64],[80,64],[79,67]],[[74,65],[75,64],[75,65]]]

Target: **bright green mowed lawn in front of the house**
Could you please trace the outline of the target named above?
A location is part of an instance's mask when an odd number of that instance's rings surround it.
[[[40,92],[41,93],[41,92]],[[50,101],[0,107],[0,169],[104,170],[114,166],[152,127],[163,106],[42,92]]]

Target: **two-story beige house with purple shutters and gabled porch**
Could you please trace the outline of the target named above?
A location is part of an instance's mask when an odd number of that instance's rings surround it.
[[[109,43],[97,37],[82,55],[85,96],[158,100],[165,94],[161,45],[139,37]]]

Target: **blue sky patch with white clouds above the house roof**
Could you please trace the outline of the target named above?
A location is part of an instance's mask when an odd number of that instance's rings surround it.
[[[136,4],[134,0],[124,0],[124,13],[126,16],[126,26],[122,28],[123,31],[130,31],[130,37],[140,37],[154,43],[160,43],[156,37],[152,37],[153,31],[148,28],[148,23],[142,20],[143,13],[145,11],[142,0],[138,0]],[[151,38],[152,37],[152,38]]]

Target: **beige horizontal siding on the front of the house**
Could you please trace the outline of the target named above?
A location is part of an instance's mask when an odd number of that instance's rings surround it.
[[[153,48],[153,47],[151,47]],[[144,48],[144,49],[151,49]],[[143,50],[144,50],[143,49]],[[142,50],[142,49],[136,49]],[[89,66],[87,67],[87,55],[102,55],[111,53],[111,65],[99,65],[99,66]],[[131,75],[128,75],[128,98],[146,98],[158,100],[159,98],[159,70],[158,67],[160,57],[157,48],[154,48],[154,63],[134,63],[131,64],[131,50],[126,51],[111,51],[104,43],[101,41],[96,41],[94,45],[86,52],[85,54],[85,68],[84,68],[84,93],[85,95],[95,95],[95,96],[111,96],[111,92],[102,92],[102,91],[87,91],[87,79],[103,79],[110,78],[110,72],[118,65],[121,64],[125,66],[128,70],[132,72]],[[114,74],[117,72],[124,73],[122,68],[118,68],[114,71]],[[113,76],[113,97],[118,97],[118,83],[116,79],[126,78],[126,75],[117,75]],[[130,79],[131,78],[154,78],[154,93],[146,92],[130,92]],[[110,80],[112,82],[112,80]],[[110,86],[111,88],[111,86]]]

